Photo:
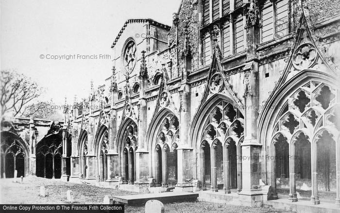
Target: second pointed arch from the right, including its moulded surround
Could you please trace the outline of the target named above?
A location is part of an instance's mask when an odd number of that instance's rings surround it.
[[[234,107],[238,105],[233,104],[225,95],[214,94],[196,112],[190,126],[190,143],[201,159],[196,162],[195,175],[203,181],[203,185],[209,187],[211,184],[210,189],[214,192],[222,188],[225,193],[230,193],[231,188],[241,190],[241,161],[237,156],[241,153],[244,118],[241,111]],[[206,155],[210,155],[211,165],[206,163],[209,161]],[[210,177],[207,171],[209,166]],[[217,168],[216,171],[214,168]],[[234,169],[233,172],[229,172],[230,168]]]

